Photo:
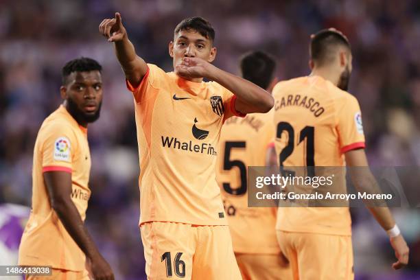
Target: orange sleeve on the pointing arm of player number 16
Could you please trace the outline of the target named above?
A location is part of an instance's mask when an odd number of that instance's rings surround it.
[[[145,100],[148,100],[148,98],[158,93],[166,80],[167,73],[165,73],[165,71],[156,65],[148,63],[148,71],[146,71],[139,86],[132,86],[128,80],[126,80],[126,86],[127,89],[132,92],[136,102],[143,103]]]

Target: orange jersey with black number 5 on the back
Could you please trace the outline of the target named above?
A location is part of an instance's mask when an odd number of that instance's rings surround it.
[[[248,166],[265,166],[268,144],[275,130],[272,111],[228,119],[220,135],[220,155],[216,178],[235,253],[277,254],[276,209],[249,207],[246,184]],[[250,236],[253,238],[250,239]]]

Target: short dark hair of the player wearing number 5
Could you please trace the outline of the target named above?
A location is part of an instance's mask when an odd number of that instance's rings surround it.
[[[276,62],[272,56],[263,51],[251,51],[241,58],[242,77],[262,89],[268,89],[274,78]]]

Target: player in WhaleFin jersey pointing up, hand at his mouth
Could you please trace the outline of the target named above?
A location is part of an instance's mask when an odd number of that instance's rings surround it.
[[[272,96],[211,65],[215,32],[200,17],[176,26],[170,73],[137,56],[119,13],[100,32],[113,42],[135,100],[148,279],[241,279],[215,180],[216,148],[226,119],[268,112]]]

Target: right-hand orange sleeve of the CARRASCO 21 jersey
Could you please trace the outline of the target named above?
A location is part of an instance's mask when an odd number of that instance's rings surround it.
[[[337,106],[337,130],[340,139],[340,152],[364,148],[362,113],[358,100],[353,96],[346,97]]]

